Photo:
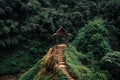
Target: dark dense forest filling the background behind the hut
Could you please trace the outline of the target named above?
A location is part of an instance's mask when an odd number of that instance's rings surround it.
[[[111,34],[113,48],[119,50],[117,45],[119,44],[120,0],[38,1],[0,1],[1,48],[23,46],[26,43],[30,49],[30,46],[36,44],[32,47],[32,50],[39,49],[37,52],[43,51],[44,49],[41,50],[40,46],[46,48],[43,44],[53,40],[51,35],[58,27],[63,25],[75,36],[79,28],[98,16],[103,18],[105,24],[107,24],[106,28]],[[7,5],[8,3],[9,5]],[[36,41],[33,43],[34,40]]]

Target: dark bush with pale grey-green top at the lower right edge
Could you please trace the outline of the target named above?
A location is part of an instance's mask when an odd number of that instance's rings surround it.
[[[120,52],[108,53],[102,58],[100,66],[108,70],[116,80],[120,79]]]

